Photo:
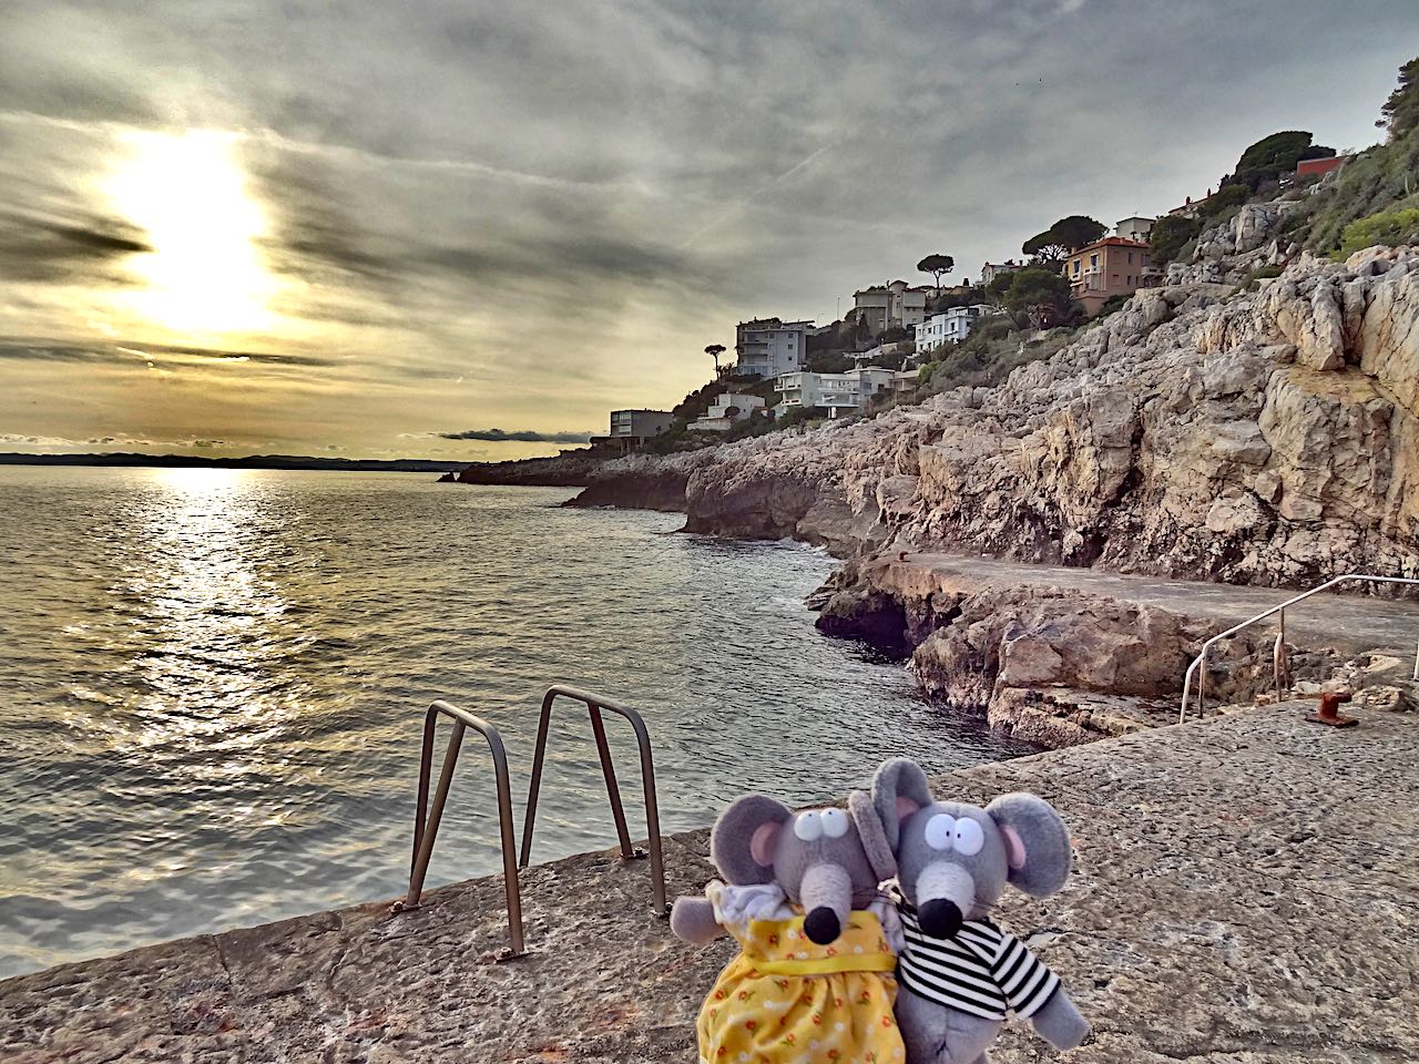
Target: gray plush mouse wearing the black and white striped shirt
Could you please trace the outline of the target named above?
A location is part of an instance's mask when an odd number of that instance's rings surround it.
[[[1009,1012],[1060,1050],[1088,1034],[1050,972],[986,914],[1006,884],[1030,897],[1069,878],[1069,830],[1034,794],[1003,794],[989,806],[935,802],[921,767],[885,762],[873,780],[877,823],[858,817],[868,853],[897,861],[905,943],[898,949],[897,1023],[908,1064],[986,1064]]]

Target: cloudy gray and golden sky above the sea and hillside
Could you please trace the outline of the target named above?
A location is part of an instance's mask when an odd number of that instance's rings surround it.
[[[0,0],[0,451],[553,454],[1250,142],[1413,0]]]

